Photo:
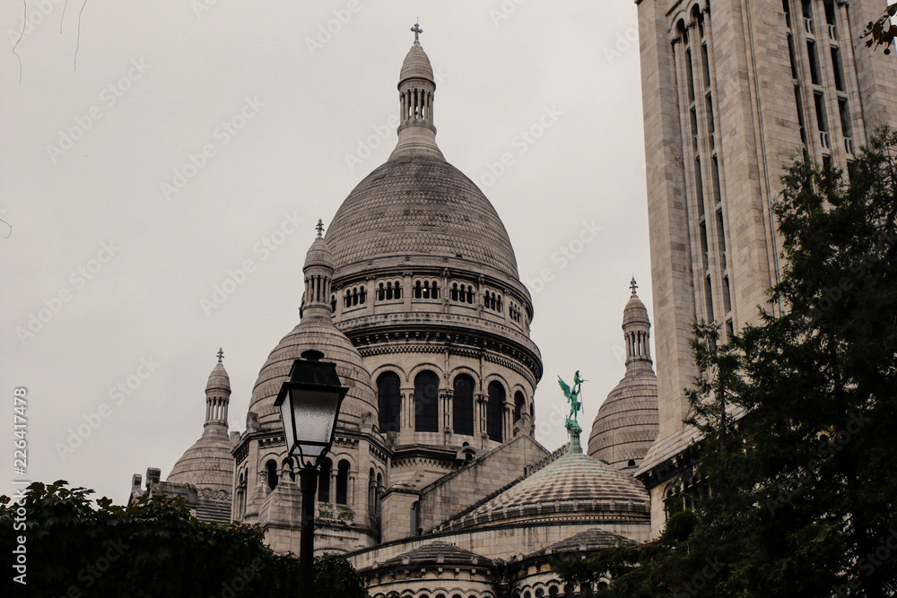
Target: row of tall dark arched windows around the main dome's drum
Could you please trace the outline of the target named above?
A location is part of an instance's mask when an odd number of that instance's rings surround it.
[[[395,372],[384,372],[377,378],[379,428],[397,432],[401,427],[401,378]],[[458,374],[452,381],[451,424],[456,434],[474,435],[475,380],[469,374]],[[414,377],[414,431],[438,432],[440,377],[425,369]],[[503,413],[506,392],[501,382],[492,380],[486,388],[486,434],[497,442],[503,440]],[[514,395],[514,421],[526,408],[524,394]]]

